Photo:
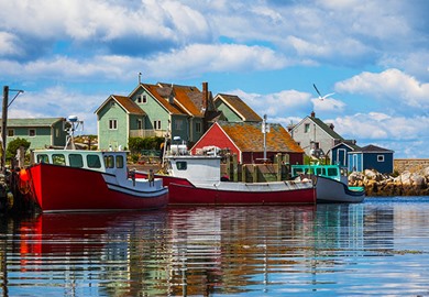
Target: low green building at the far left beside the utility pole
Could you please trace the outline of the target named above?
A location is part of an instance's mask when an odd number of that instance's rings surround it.
[[[65,120],[65,118],[8,119],[7,145],[20,138],[31,143],[30,148],[64,147],[66,145]]]

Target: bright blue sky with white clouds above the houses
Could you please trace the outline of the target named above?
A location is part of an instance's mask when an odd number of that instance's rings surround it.
[[[238,95],[285,128],[311,111],[356,144],[429,157],[427,0],[0,0],[9,118],[96,109],[141,80]],[[334,95],[321,100],[322,96]]]

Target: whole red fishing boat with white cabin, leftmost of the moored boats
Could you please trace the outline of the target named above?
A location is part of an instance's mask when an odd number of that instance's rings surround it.
[[[125,151],[37,150],[32,158],[19,187],[45,212],[156,209],[168,202],[161,178],[129,174]]]

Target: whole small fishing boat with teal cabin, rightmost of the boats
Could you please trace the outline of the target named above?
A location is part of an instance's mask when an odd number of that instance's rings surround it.
[[[312,179],[316,184],[317,202],[359,204],[365,199],[365,189],[350,187],[348,172],[340,165],[292,165],[292,176]]]

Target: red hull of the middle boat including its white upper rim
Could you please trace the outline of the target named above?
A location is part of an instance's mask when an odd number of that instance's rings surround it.
[[[285,182],[289,183],[289,182]],[[230,184],[231,186],[226,186]],[[316,204],[315,188],[296,186],[277,187],[276,183],[244,184],[223,183],[217,186],[194,186],[170,183],[169,205],[308,205]],[[301,186],[301,184],[300,184]]]

